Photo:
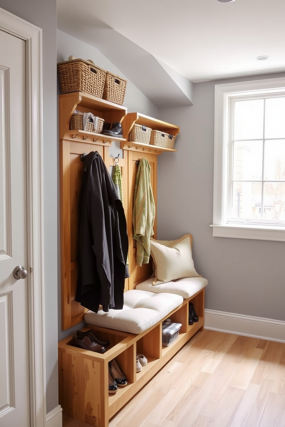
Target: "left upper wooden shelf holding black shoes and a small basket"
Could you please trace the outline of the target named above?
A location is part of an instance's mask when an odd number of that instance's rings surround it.
[[[114,122],[121,123],[127,114],[127,108],[123,105],[105,101],[105,99],[84,92],[59,95],[59,139],[64,139],[65,134],[70,133],[69,122],[74,110],[79,110],[82,113],[90,111],[111,124]],[[73,131],[73,133],[76,132]],[[118,138],[114,138],[114,140],[118,140]]]

